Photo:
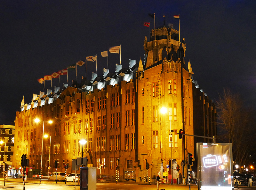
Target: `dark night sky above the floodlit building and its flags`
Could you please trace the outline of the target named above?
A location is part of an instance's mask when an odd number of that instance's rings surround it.
[[[190,2],[190,3],[189,3]],[[98,55],[97,73],[107,68],[101,51],[121,44],[122,67],[129,59],[143,59],[144,38],[154,19],[156,28],[179,22],[185,38],[185,62],[191,62],[194,80],[210,97],[218,99],[223,87],[241,94],[246,106],[256,107],[256,1],[102,1],[102,0],[2,0],[0,1],[0,125],[15,120],[20,103],[30,103],[32,95],[44,91],[37,79],[51,75],[86,56]],[[119,54],[109,53],[109,69],[114,72]],[[87,78],[96,65],[87,62]],[[77,69],[77,80],[85,77],[85,67]],[[68,84],[76,79],[70,71]],[[52,90],[58,86],[52,79]],[[67,82],[60,76],[60,87]],[[46,89],[51,81],[45,81]],[[14,124],[14,123],[12,123]]]

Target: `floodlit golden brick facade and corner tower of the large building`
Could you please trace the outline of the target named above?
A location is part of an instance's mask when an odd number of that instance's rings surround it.
[[[55,87],[54,92],[34,94],[32,102],[16,113],[14,167],[27,154],[29,167],[40,168],[43,148],[43,174],[47,174],[49,138],[42,145],[43,122],[34,122],[39,118],[45,121],[44,134],[51,136],[51,172],[55,160],[58,171],[64,172],[64,165],[71,165],[84,151],[97,174],[109,180],[115,180],[118,165],[120,180],[144,182],[146,163],[151,179],[159,171],[163,175],[171,163],[177,179],[176,166],[183,160],[186,164],[188,152],[194,154],[193,137],[179,139],[178,133],[182,128],[185,134],[194,134],[195,112],[193,72],[190,62],[184,61],[186,47],[179,46],[178,36],[172,28],[157,29],[156,41],[145,38],[144,62],[130,60],[127,69],[116,65],[115,73],[104,69],[102,77],[93,73],[91,80],[73,81],[71,87],[63,84],[62,91]],[[167,113],[160,113],[162,107]],[[87,141],[84,147],[82,139]]]

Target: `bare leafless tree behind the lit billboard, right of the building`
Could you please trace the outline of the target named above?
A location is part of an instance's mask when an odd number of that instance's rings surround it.
[[[216,108],[218,138],[222,142],[232,143],[235,163],[244,165],[254,150],[254,147],[250,146],[255,135],[252,128],[252,112],[243,106],[239,94],[234,94],[229,89],[224,89],[223,94],[219,94]]]

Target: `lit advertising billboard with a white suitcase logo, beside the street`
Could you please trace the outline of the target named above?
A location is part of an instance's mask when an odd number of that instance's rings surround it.
[[[232,160],[232,143],[197,143],[198,189],[234,189]]]

